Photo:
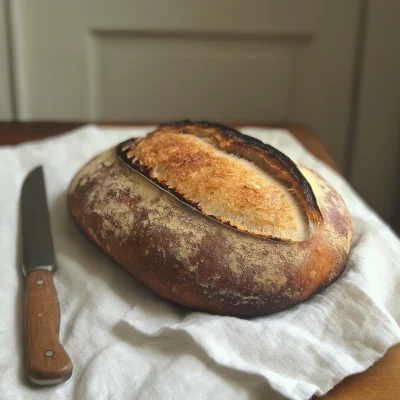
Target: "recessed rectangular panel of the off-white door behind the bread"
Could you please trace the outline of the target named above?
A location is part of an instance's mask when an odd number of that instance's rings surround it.
[[[101,31],[90,59],[92,117],[285,119],[308,44],[307,36]]]

